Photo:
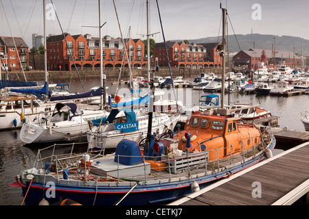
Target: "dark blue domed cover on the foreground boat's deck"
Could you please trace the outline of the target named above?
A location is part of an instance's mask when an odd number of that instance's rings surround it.
[[[119,158],[118,158],[119,155]],[[122,140],[118,143],[115,152],[114,162],[118,162],[126,166],[140,164],[143,162],[139,144],[130,140]]]

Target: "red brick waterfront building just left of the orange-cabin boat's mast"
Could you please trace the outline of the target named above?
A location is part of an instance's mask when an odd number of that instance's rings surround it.
[[[166,42],[170,66],[178,68],[221,68],[222,58],[218,51],[218,42],[202,44],[185,44],[183,42]],[[153,48],[155,65],[168,66],[164,42],[155,44]]]

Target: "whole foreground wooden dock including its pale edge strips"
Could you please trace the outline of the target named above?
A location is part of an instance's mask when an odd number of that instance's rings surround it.
[[[291,205],[309,192],[309,142],[169,205]]]

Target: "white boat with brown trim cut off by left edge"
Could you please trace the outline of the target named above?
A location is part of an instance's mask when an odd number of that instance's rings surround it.
[[[45,118],[55,103],[43,103],[34,95],[5,94],[0,97],[0,130],[21,128],[27,121]]]

